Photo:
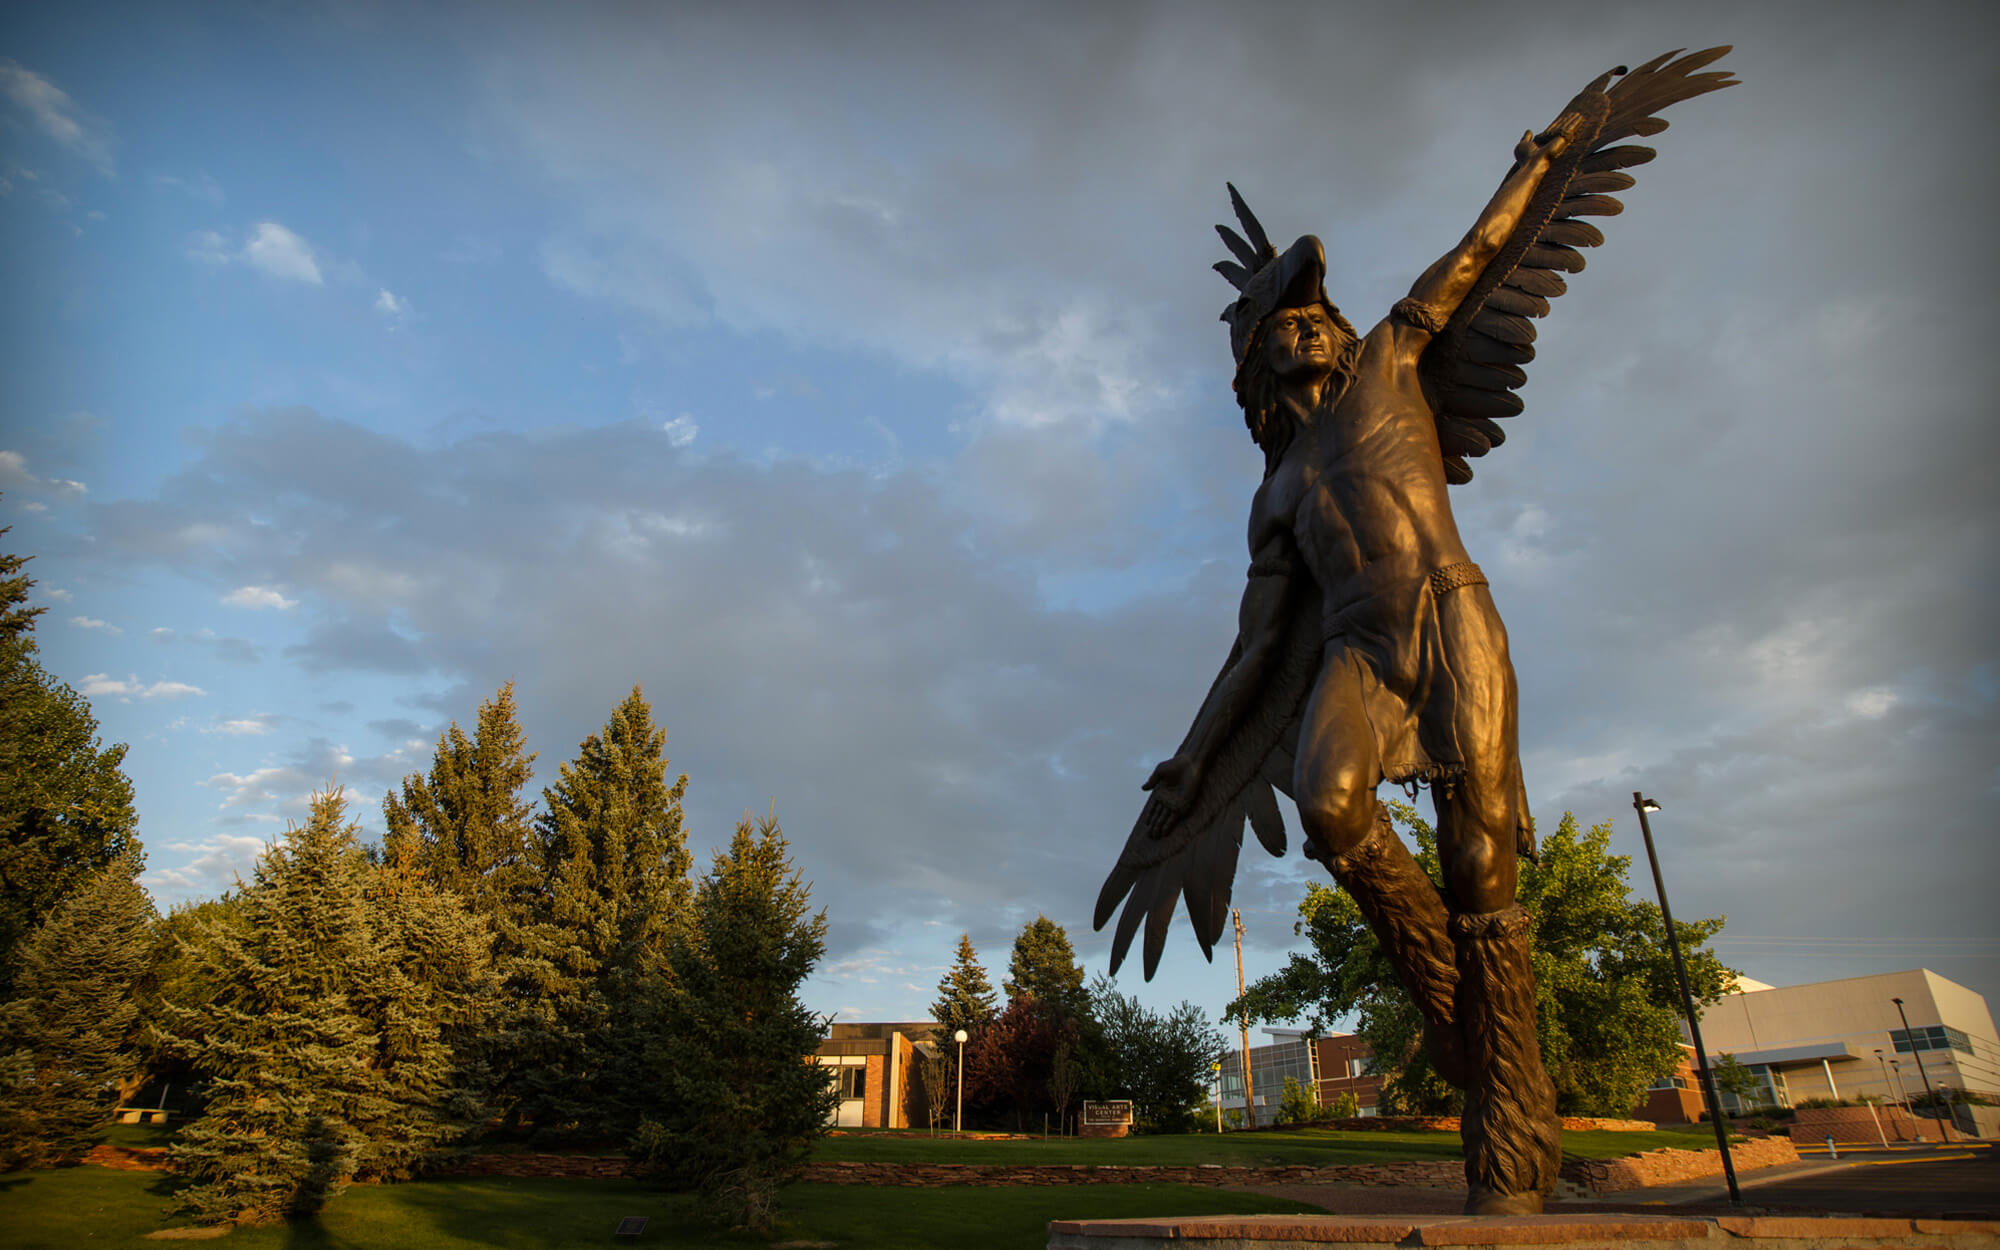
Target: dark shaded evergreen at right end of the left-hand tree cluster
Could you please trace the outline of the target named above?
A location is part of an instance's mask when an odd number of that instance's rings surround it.
[[[702,876],[656,982],[646,1046],[656,1100],[632,1154],[692,1186],[726,1224],[770,1228],[776,1192],[826,1134],[836,1092],[806,1056],[826,1020],[798,990],[826,952],[826,912],[792,868],[774,818],[736,826]]]

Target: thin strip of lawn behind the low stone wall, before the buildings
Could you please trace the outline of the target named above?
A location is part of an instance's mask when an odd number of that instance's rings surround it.
[[[1562,1152],[1572,1158],[1614,1158],[1674,1146],[1714,1150],[1706,1124],[1660,1132],[1564,1132]],[[1028,1138],[958,1140],[908,1130],[850,1130],[826,1138],[812,1152],[826,1162],[934,1162],[934,1164],[1234,1164],[1272,1168],[1284,1164],[1336,1166],[1390,1160],[1460,1158],[1456,1132],[1338,1132],[1332,1128],[1144,1136],[1144,1138]]]

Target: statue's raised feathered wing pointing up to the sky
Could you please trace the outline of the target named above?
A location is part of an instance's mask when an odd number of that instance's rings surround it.
[[[1624,170],[1654,158],[1652,148],[1622,140],[1666,130],[1654,114],[1668,104],[1736,86],[1726,70],[1696,72],[1726,52],[1726,46],[1688,56],[1674,50],[1630,72],[1620,66],[1570,100],[1568,148],[1542,178],[1506,246],[1424,350],[1424,384],[1452,484],[1472,480],[1466,460],[1500,446],[1506,432],[1498,422],[1522,410],[1514,392],[1528,380],[1522,366],[1534,360],[1530,318],[1548,316],[1550,300],[1568,290],[1564,274],[1582,272],[1580,248],[1604,242],[1604,232],[1582,218],[1624,212],[1610,192],[1630,188],[1634,178]]]

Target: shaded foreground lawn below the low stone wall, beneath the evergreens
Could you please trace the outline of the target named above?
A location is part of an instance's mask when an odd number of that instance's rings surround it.
[[[0,1246],[68,1250],[176,1242],[146,1234],[186,1224],[172,1216],[172,1182],[156,1172],[60,1168],[0,1176]],[[354,1186],[312,1220],[238,1228],[234,1250],[426,1250],[540,1246],[766,1246],[830,1242],[882,1250],[994,1246],[1040,1250],[1050,1220],[1318,1210],[1282,1198],[1198,1186],[866,1188],[802,1184],[784,1194],[784,1224],[766,1238],[694,1220],[686,1198],[628,1180],[422,1180]],[[624,1216],[646,1216],[638,1238],[614,1236]],[[204,1244],[204,1242],[194,1242]]]

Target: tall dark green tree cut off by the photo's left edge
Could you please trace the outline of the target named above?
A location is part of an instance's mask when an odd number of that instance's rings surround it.
[[[6,530],[0,530],[6,534]],[[0,1000],[14,948],[100,868],[138,856],[124,744],[34,660],[28,558],[0,554]]]

